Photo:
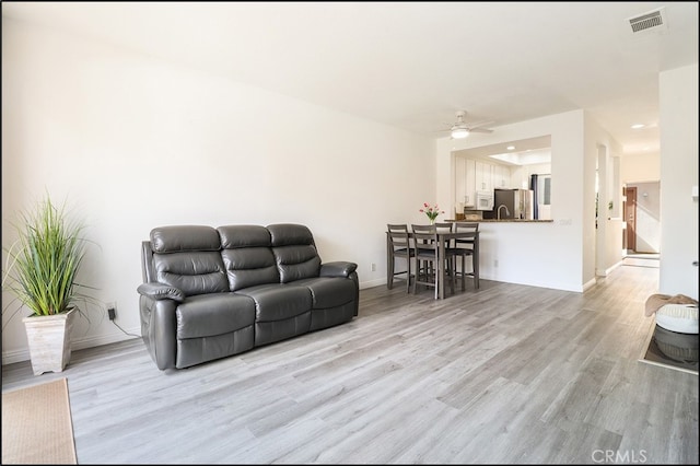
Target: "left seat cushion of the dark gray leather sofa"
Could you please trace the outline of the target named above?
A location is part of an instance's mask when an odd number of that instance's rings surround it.
[[[234,293],[189,296],[176,310],[177,339],[228,334],[255,323],[255,302]]]

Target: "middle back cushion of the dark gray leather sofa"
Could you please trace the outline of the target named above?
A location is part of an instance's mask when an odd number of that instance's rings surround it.
[[[231,291],[280,282],[270,232],[265,226],[226,225],[217,230]]]

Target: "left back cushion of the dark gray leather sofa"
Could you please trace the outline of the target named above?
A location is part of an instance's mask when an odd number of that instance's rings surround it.
[[[188,296],[229,291],[215,229],[160,226],[151,230],[151,249],[156,281],[176,287]]]

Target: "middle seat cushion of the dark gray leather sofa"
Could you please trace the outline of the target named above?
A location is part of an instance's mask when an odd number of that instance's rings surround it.
[[[256,322],[283,321],[311,311],[312,295],[306,287],[260,284],[235,292],[253,299]]]

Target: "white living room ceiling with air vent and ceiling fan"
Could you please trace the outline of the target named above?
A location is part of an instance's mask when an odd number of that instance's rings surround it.
[[[667,28],[631,33],[660,7]],[[698,62],[697,2],[2,2],[2,15],[432,137],[458,109],[498,128],[584,108],[625,153],[658,150],[658,72]]]

